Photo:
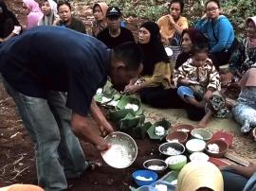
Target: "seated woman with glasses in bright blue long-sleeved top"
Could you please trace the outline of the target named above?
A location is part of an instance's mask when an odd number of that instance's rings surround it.
[[[217,59],[217,64],[226,64],[237,45],[233,26],[229,19],[221,14],[218,0],[208,1],[206,11],[195,27],[209,38],[210,53]]]

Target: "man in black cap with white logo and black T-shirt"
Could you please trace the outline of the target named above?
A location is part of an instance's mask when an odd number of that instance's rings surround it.
[[[120,43],[135,42],[131,30],[121,26],[121,12],[118,7],[109,7],[106,11],[107,27],[102,30],[97,39],[109,48],[114,48]]]

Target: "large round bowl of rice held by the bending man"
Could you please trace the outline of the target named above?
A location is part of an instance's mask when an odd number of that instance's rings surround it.
[[[104,138],[111,148],[101,152],[106,164],[116,168],[132,165],[137,158],[137,144],[135,140],[124,132],[115,131]]]

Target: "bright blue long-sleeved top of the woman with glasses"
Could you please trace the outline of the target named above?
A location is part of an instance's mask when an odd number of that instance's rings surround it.
[[[201,19],[195,27],[208,36],[211,53],[220,52],[223,49],[228,50],[234,41],[233,26],[224,15],[220,15],[216,21]]]

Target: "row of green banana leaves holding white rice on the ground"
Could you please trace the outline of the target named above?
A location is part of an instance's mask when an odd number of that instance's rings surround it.
[[[137,96],[120,94],[110,82],[98,89],[94,99],[107,109],[107,117],[118,125],[119,130],[129,133],[136,139],[143,139],[148,134],[151,139],[162,140],[171,126],[171,123],[166,120],[155,122],[155,124],[145,123],[145,115]],[[165,129],[163,135],[155,134],[157,126]]]

